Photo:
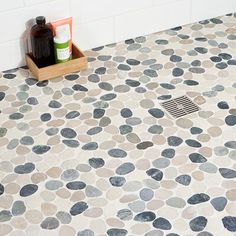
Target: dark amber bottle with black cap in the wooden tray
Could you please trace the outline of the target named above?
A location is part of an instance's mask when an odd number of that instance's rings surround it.
[[[33,60],[39,68],[55,64],[53,33],[44,16],[36,18],[30,32]]]

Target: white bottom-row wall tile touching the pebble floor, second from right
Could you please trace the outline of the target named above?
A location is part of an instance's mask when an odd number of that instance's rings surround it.
[[[155,5],[115,17],[115,41],[142,36],[190,22],[190,3],[186,0]],[[165,15],[163,14],[165,13]],[[178,14],[176,14],[178,12]],[[173,17],[173,16],[177,17]],[[141,31],[140,31],[141,28]]]

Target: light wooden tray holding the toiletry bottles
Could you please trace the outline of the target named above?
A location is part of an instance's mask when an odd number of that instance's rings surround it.
[[[38,80],[49,80],[68,73],[84,70],[88,67],[88,61],[83,52],[72,44],[72,60],[43,68],[38,68],[32,60],[32,55],[26,54],[26,64],[32,74]]]

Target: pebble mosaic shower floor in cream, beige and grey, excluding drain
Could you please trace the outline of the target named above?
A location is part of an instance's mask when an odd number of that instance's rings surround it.
[[[0,235],[236,232],[236,15],[0,78]],[[160,102],[201,111],[172,119]]]

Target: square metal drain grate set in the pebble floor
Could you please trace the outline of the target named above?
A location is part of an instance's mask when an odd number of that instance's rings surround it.
[[[179,118],[188,114],[194,113],[200,110],[200,107],[195,104],[187,96],[181,96],[175,99],[171,99],[166,102],[162,102],[161,106],[170,114],[173,118]]]

